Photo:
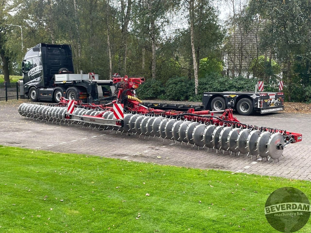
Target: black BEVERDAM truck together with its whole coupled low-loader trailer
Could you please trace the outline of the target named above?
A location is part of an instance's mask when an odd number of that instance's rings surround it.
[[[26,98],[31,101],[54,101],[61,97],[79,99],[86,103],[109,103],[116,98],[118,82],[99,80],[94,73],[73,74],[71,45],[39,43],[28,49],[22,62],[23,82]],[[137,76],[136,76],[137,77]],[[121,77],[118,77],[119,79]],[[142,77],[139,77],[143,79]],[[110,86],[110,87],[109,87]],[[204,92],[202,105],[144,103],[148,107],[162,110],[214,110],[236,109],[240,115],[277,112],[284,109],[285,95],[282,92]]]

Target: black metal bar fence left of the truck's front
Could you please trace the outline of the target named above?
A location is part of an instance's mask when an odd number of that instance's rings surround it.
[[[0,83],[0,101],[23,98],[25,98],[23,82]]]

